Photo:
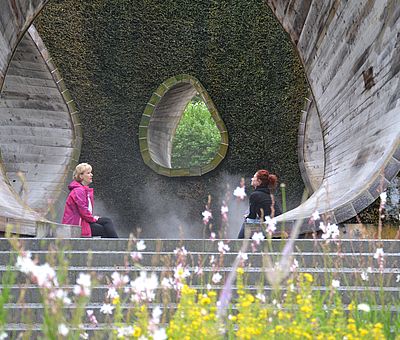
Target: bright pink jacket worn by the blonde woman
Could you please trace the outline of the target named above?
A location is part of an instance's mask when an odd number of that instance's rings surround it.
[[[89,223],[96,222],[96,219],[88,209],[88,197],[90,197],[93,208],[93,189],[77,181],[72,181],[71,184],[68,185],[68,189],[70,193],[65,202],[62,223],[81,226],[82,237],[91,237],[92,231],[90,230]]]

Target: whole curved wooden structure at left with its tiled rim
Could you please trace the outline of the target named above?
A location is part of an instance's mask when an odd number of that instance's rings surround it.
[[[36,222],[63,207],[81,143],[62,78],[35,28],[27,30],[44,3],[0,6],[2,27],[13,27],[0,35],[1,228],[20,223],[29,226],[21,233],[34,235]]]

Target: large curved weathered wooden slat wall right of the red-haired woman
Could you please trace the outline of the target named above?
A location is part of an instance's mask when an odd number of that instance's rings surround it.
[[[301,166],[310,170],[313,159],[325,161],[321,186],[281,219],[310,216],[318,208],[341,222],[372,203],[400,169],[400,3],[268,4],[297,47],[320,118],[324,153],[314,148],[315,130],[301,127]],[[298,13],[304,21],[296,20]],[[370,67],[374,85],[366,88],[363,72]]]

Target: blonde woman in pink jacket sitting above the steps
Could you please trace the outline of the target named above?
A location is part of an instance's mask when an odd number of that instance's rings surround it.
[[[74,180],[68,186],[70,193],[65,203],[62,223],[80,226],[82,237],[118,238],[111,219],[93,216],[93,189],[89,188],[92,180],[92,167],[87,163],[78,164]]]

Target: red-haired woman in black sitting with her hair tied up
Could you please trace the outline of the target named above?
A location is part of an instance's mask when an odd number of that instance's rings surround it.
[[[255,190],[249,198],[250,208],[249,214],[246,216],[247,221],[265,221],[266,216],[273,218],[281,214],[273,195],[277,182],[276,175],[270,174],[267,170],[258,170],[254,174],[251,185]],[[244,224],[238,238],[244,238]]]

